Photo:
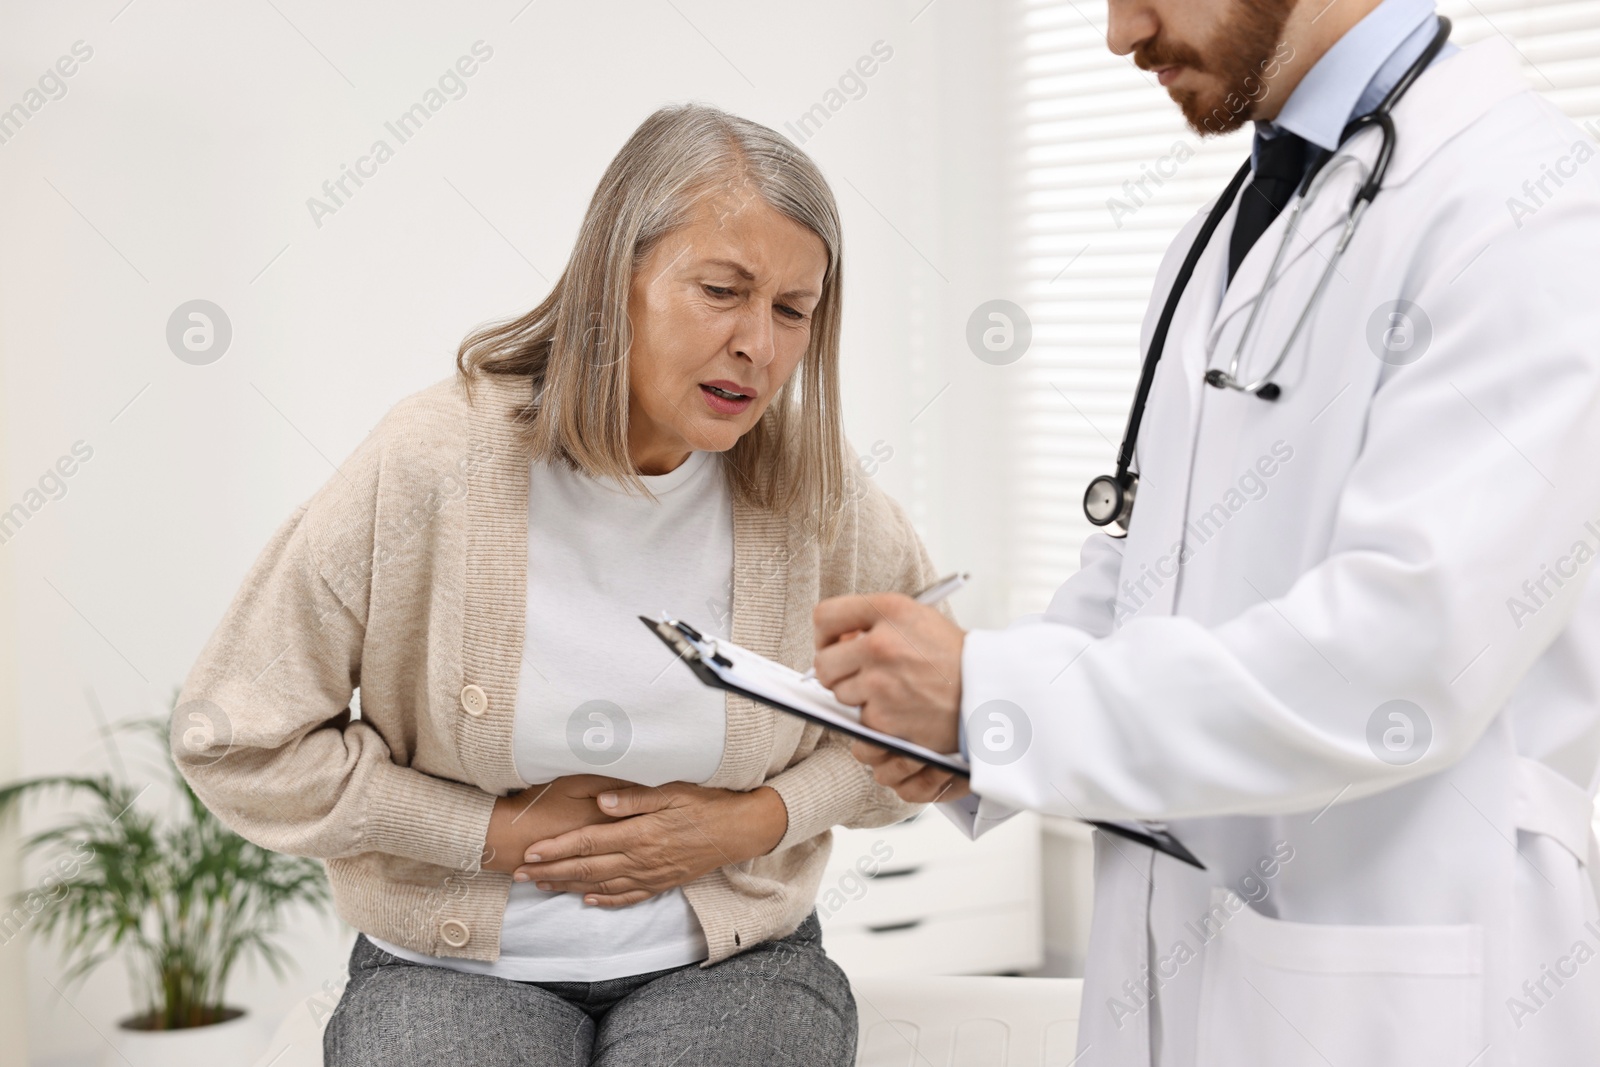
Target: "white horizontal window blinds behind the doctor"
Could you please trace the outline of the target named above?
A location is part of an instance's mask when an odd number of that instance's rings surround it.
[[[1101,0],[1013,0],[1013,291],[1034,323],[1018,365],[1011,613],[1040,611],[1093,530],[1083,486],[1112,469],[1162,253],[1250,154],[1248,126],[1197,138],[1155,78],[1106,48]],[[1445,0],[1453,40],[1499,34],[1530,85],[1600,118],[1600,0]]]

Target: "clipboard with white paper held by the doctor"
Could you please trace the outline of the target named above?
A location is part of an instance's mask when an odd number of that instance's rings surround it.
[[[950,771],[968,781],[973,777],[971,765],[958,755],[944,755],[902,737],[864,726],[861,723],[861,709],[842,704],[821,681],[806,678],[798,670],[790,670],[733,641],[701,633],[688,622],[670,617],[666,611],[661,613],[659,619],[642,614],[638,621],[661,638],[661,643],[670,648],[683,661],[683,665],[694,672],[696,678],[714,689],[738,693],[779,712],[798,715],[829,729],[869,741],[882,749]],[[1115,833],[1117,837],[1182,861],[1190,867],[1205,870],[1205,864],[1184,848],[1182,841],[1173,837],[1162,824],[1112,822],[1106,819],[1085,819],[1085,822],[1098,830]]]

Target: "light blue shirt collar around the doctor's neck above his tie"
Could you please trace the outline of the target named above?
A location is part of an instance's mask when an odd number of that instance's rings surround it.
[[[1278,117],[1258,122],[1256,133],[1272,138],[1288,130],[1336,150],[1344,126],[1394,88],[1427,48],[1435,26],[1434,0],[1384,0],[1323,53]]]

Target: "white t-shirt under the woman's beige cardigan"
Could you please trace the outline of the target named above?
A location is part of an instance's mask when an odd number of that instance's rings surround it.
[[[699,683],[638,616],[670,611],[728,637],[733,501],[715,453],[646,477],[654,501],[565,466],[534,464],[528,491],[528,622],[514,749],[528,782],[606,774],[704,782],[722,763],[722,691]],[[704,960],[682,889],[622,909],[514,881],[493,963],[406,960],[522,982],[598,982]]]

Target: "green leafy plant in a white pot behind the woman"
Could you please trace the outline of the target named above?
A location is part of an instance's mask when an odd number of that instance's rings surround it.
[[[122,958],[138,1011],[118,1024],[107,1064],[248,1064],[264,1035],[226,1003],[227,979],[243,960],[283,976],[286,958],[275,937],[285,912],[293,904],[326,905],[326,877],[314,859],[272,853],[224,827],[173,765],[166,721],[139,720],[109,733],[130,729],[160,742],[178,816],[141,808],[149,785],[125,774],[53,774],[0,787],[0,817],[48,792],[91,801],[22,843],[24,854],[54,862],[37,889],[13,901],[5,937],[21,928],[58,941],[69,987]],[[110,742],[120,766],[115,736]]]

